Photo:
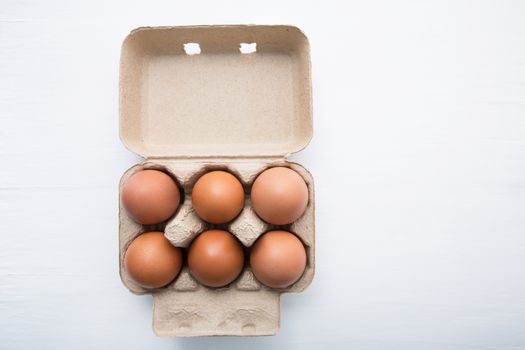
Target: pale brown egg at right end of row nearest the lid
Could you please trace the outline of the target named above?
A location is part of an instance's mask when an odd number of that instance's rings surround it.
[[[308,187],[292,169],[270,168],[255,179],[251,200],[261,219],[274,225],[286,225],[303,215],[308,205]]]

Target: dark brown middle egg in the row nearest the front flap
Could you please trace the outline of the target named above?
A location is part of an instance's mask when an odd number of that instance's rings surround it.
[[[188,267],[192,276],[209,287],[222,287],[232,282],[243,266],[242,245],[227,231],[201,233],[188,252]]]

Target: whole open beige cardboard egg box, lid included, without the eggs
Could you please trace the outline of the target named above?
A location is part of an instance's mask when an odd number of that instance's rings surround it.
[[[181,204],[166,222],[134,222],[120,201],[119,262],[124,285],[153,295],[153,330],[160,336],[272,335],[279,330],[280,294],[300,292],[315,268],[314,183],[301,165],[287,161],[312,136],[308,40],[292,26],[191,26],[139,28],[122,46],[120,136],[145,161],[122,176],[158,169],[181,189]],[[253,181],[267,168],[287,166],[308,186],[304,215],[292,224],[262,221],[250,203]],[[211,225],[191,205],[200,176],[213,170],[235,175],[245,190],[244,209],[232,222]],[[166,287],[144,289],[129,277],[124,256],[139,234],[163,231],[186,249],[201,232],[225,229],[245,247],[245,267],[222,288],[209,288],[189,273],[186,259]],[[273,229],[295,233],[303,242],[307,265],[285,289],[264,286],[249,267],[257,238]]]

